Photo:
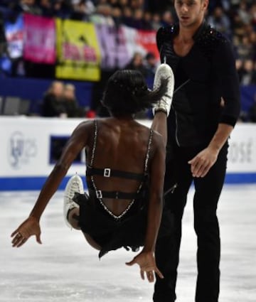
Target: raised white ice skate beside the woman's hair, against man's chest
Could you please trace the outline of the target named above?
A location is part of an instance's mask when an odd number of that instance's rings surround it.
[[[165,63],[159,65],[156,69],[156,74],[154,76],[154,89],[158,88],[161,85],[161,80],[164,79],[168,79],[167,92],[164,97],[154,105],[153,114],[158,111],[163,111],[166,112],[168,117],[174,95],[174,72],[171,70],[171,67]]]

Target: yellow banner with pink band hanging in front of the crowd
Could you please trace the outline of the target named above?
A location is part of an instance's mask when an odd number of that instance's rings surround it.
[[[56,19],[55,75],[62,79],[100,80],[100,46],[92,23]]]

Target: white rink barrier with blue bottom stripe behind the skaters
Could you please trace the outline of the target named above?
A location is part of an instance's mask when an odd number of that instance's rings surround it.
[[[39,190],[61,147],[84,119],[0,117],[0,190]],[[140,121],[150,126],[151,121]],[[85,153],[60,185],[74,173],[85,175]],[[226,183],[256,183],[256,124],[237,124],[231,135]]]

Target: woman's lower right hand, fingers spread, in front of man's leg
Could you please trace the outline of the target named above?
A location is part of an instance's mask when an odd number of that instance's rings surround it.
[[[158,274],[161,279],[164,278],[164,276],[161,274],[161,271],[159,271],[159,269],[157,268],[154,254],[151,252],[141,252],[136,257],[134,257],[132,261],[129,261],[126,264],[129,266],[132,266],[133,264],[139,264],[140,273],[143,280],[145,279],[144,272],[146,272],[146,277],[149,282],[154,282],[154,272]]]

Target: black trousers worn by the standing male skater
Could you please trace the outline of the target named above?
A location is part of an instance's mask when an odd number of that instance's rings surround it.
[[[164,279],[156,276],[154,302],[176,300],[176,279],[181,245],[181,220],[186,205],[188,189],[192,181],[195,185],[193,198],[194,229],[197,235],[196,302],[217,302],[220,282],[220,232],[216,215],[228,154],[228,143],[223,146],[208,174],[203,178],[193,178],[188,161],[204,147],[180,148],[173,146],[171,158],[166,161],[165,191],[177,183],[173,193],[165,197],[165,209],[174,214],[174,232],[161,237],[156,242],[156,264]]]

